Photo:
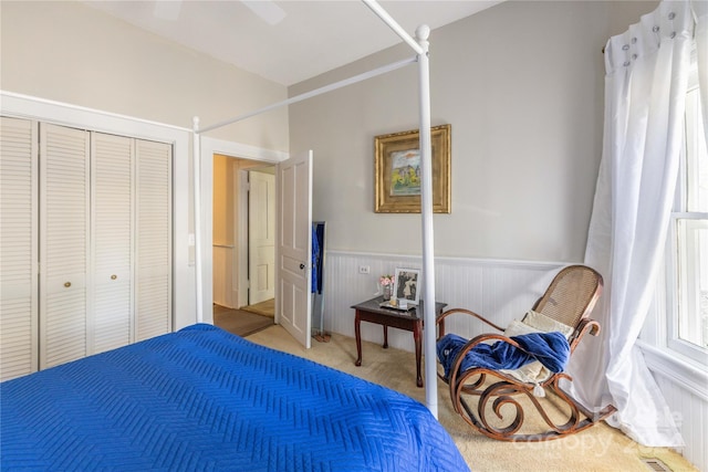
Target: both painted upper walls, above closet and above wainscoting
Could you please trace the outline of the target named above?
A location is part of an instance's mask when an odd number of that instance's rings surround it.
[[[433,31],[433,124],[452,125],[452,213],[435,217],[436,254],[582,260],[602,147],[601,50],[656,3],[508,1]],[[0,25],[9,92],[185,127],[287,93],[80,2],[3,1]],[[288,93],[412,55],[397,46]],[[329,222],[329,247],[417,254],[417,216],[373,211],[374,136],[417,128],[416,91],[412,65],[212,136],[313,148],[313,214]]]

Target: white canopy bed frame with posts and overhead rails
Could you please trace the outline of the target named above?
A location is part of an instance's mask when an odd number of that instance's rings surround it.
[[[194,117],[194,189],[195,189],[195,272],[196,272],[196,297],[197,297],[197,321],[204,321],[204,289],[202,289],[202,255],[201,255],[201,186],[200,186],[200,160],[201,143],[200,136],[207,132],[230,125],[261,113],[269,112],[281,106],[288,106],[302,102],[324,93],[375,77],[403,66],[418,63],[418,96],[419,96],[419,130],[420,130],[420,217],[423,223],[423,277],[424,291],[423,300],[426,303],[435,304],[435,258],[434,258],[434,228],[433,228],[433,164],[431,164],[431,139],[430,139],[430,71],[428,61],[428,36],[430,29],[423,24],[416,30],[416,39],[412,38],[375,0],[362,0],[386,25],[388,25],[406,44],[416,53],[414,57],[395,62],[369,72],[335,82],[330,85],[293,96],[285,101],[266,106],[263,108],[236,116],[214,125],[200,127],[199,118]],[[435,326],[435,314],[426,312],[424,323],[427,326]],[[425,377],[435,379],[437,376],[436,366],[436,334],[435,329],[424,331],[425,339]],[[437,385],[435,381],[425,382],[426,406],[437,418],[438,400]]]

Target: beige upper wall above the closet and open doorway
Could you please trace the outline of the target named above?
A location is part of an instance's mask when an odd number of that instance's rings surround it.
[[[196,53],[79,1],[0,2],[0,87],[191,128],[287,97],[285,87]],[[210,133],[288,150],[288,113]]]

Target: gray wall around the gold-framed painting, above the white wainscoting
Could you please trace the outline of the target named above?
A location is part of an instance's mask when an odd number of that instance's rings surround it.
[[[657,2],[508,1],[433,31],[431,122],[452,126],[452,212],[435,253],[582,261],[602,151],[602,48]],[[414,53],[396,46],[295,95]],[[313,216],[342,251],[418,254],[419,217],[374,213],[374,137],[418,127],[417,66],[290,107],[314,150]]]

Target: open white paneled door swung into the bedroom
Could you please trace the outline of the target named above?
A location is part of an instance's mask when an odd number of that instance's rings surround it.
[[[311,339],[312,150],[278,165],[277,321],[305,348]]]

